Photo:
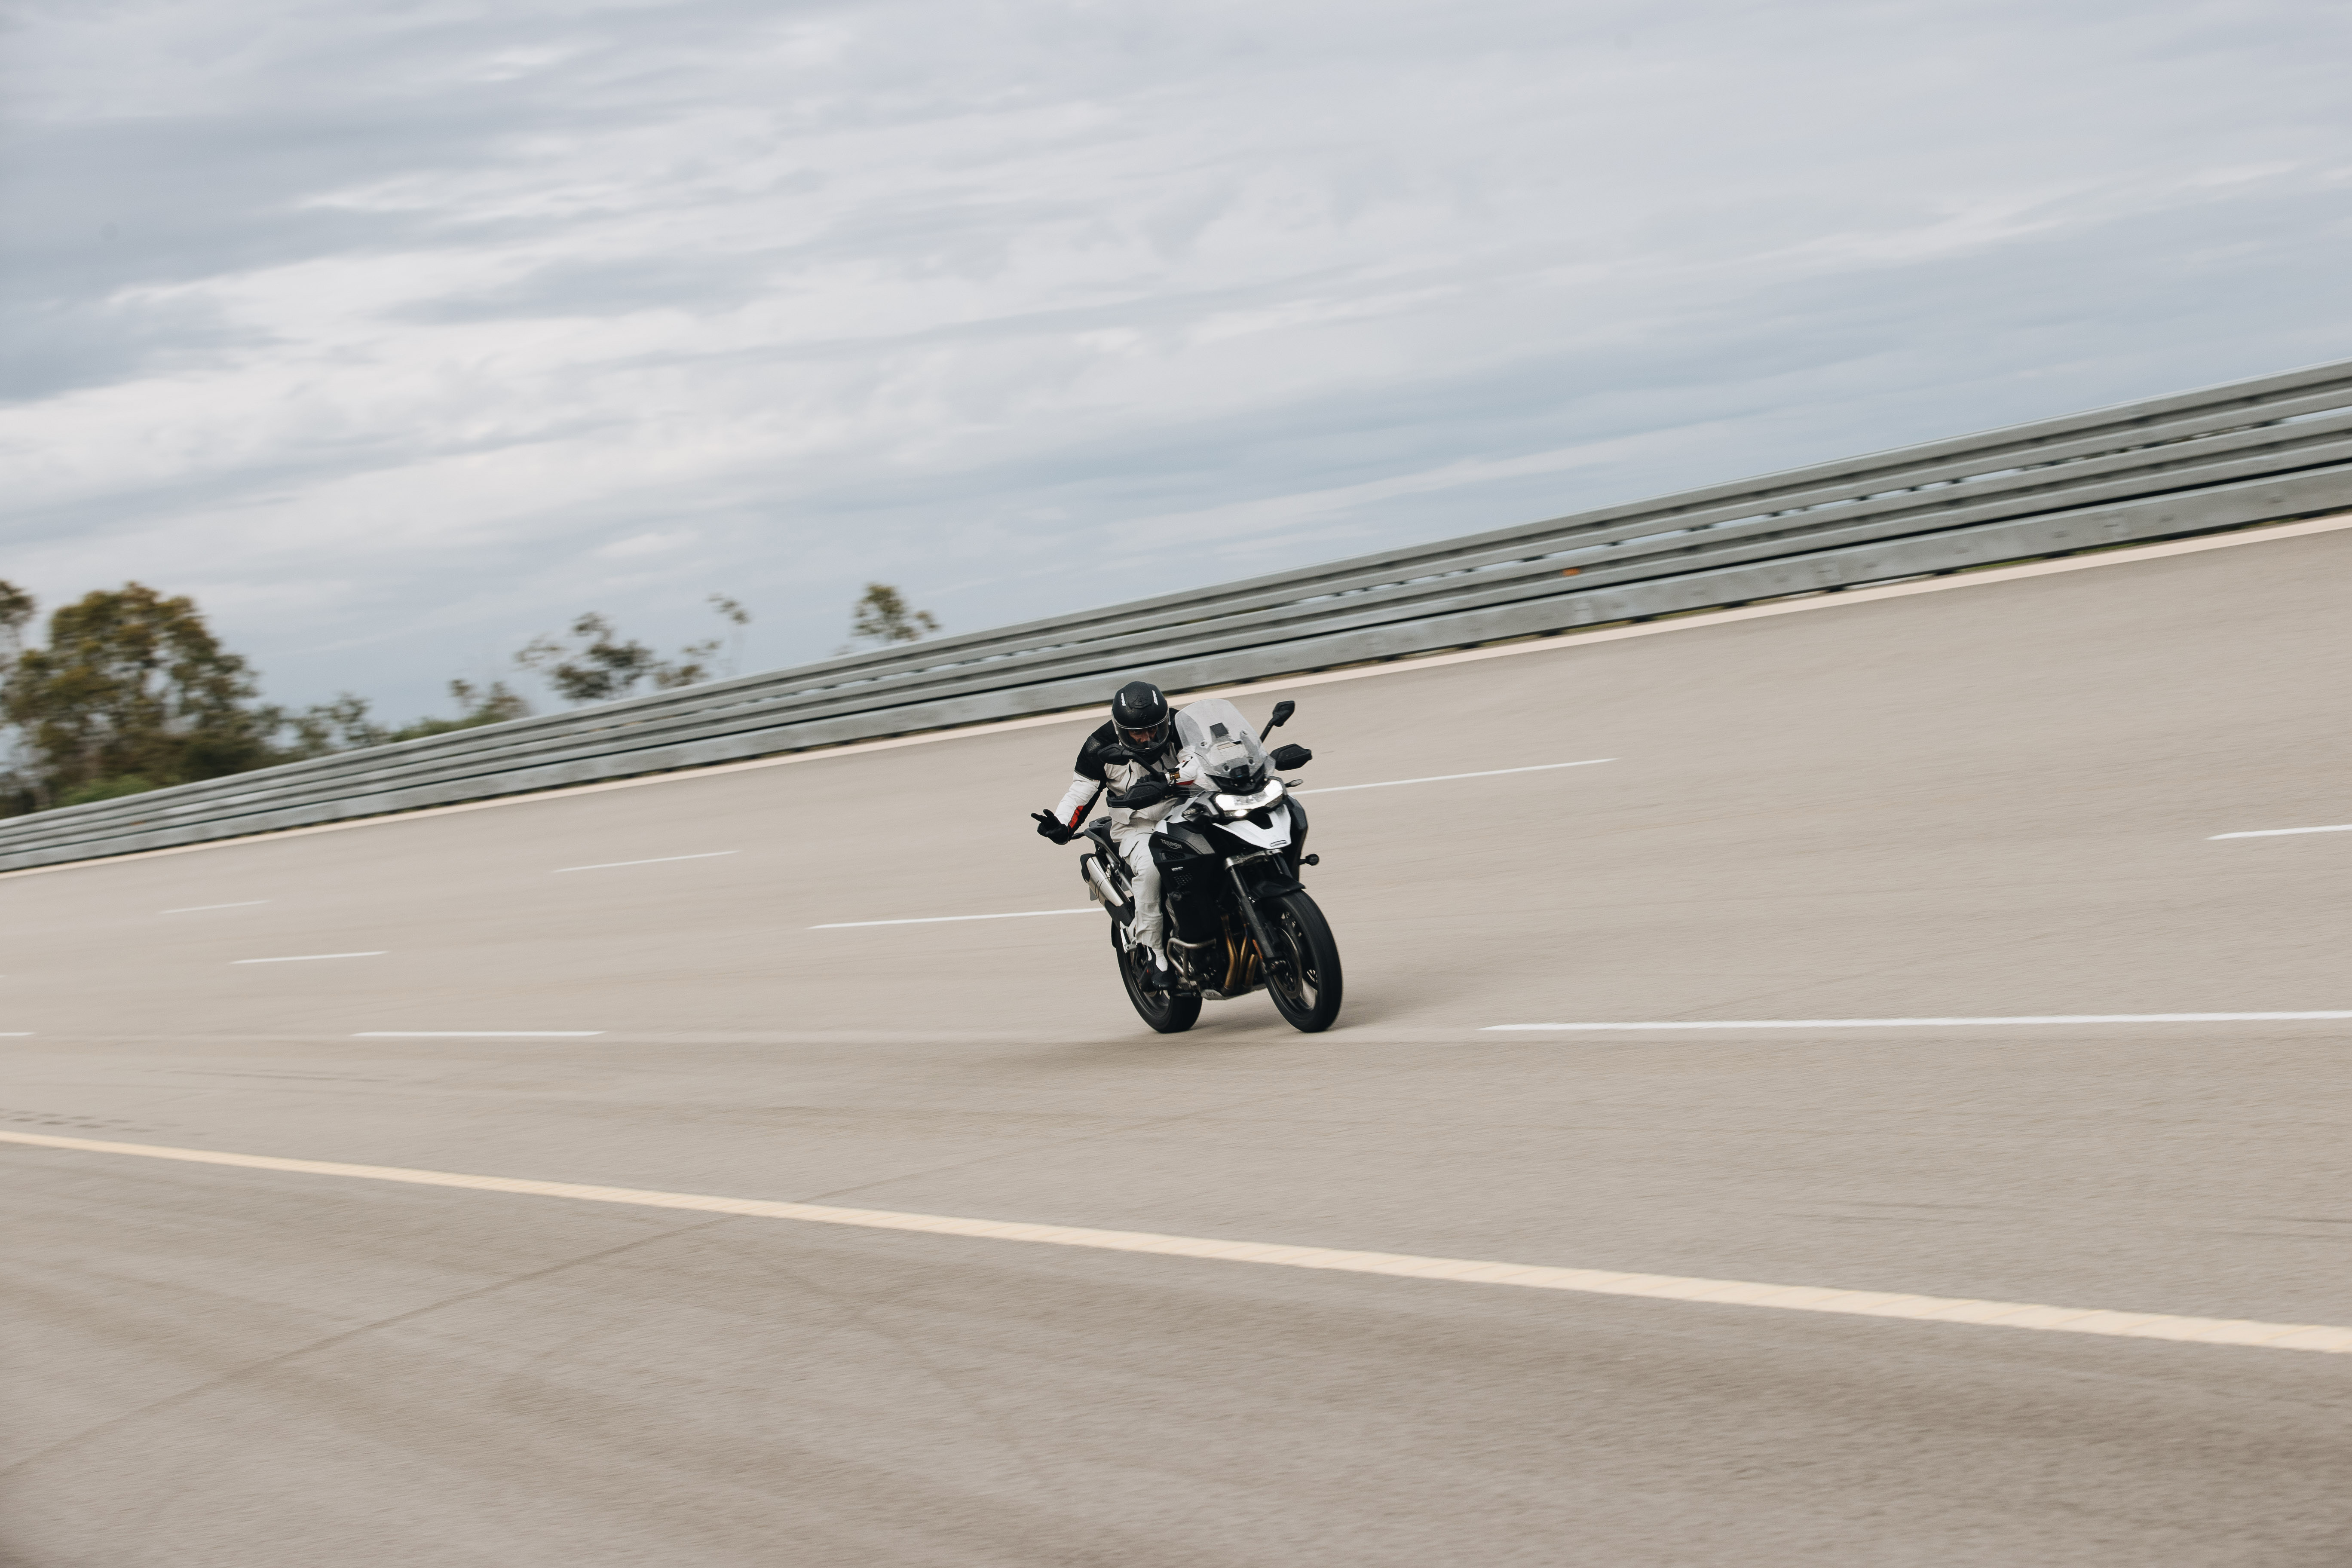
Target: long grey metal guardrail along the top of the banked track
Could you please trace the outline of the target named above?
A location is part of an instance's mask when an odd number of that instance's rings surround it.
[[[736,762],[2352,505],[2352,360],[0,820],[0,870]]]

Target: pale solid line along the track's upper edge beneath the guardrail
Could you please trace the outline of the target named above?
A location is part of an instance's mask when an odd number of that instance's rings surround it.
[[[1463,649],[1458,654],[1423,654],[1418,658],[1397,658],[1390,663],[1357,665],[1352,670],[1324,670],[1319,675],[1270,675],[1265,679],[1242,682],[1237,686],[1211,686],[1204,691],[1190,691],[1181,698],[1171,693],[1171,701],[1195,703],[1204,696],[1251,696],[1272,691],[1298,691],[1303,686],[1329,686],[1334,682],[1348,679],[1381,679],[1385,675],[1411,675],[1414,670],[1432,670],[1437,665],[1461,665],[1477,663],[1482,658],[1519,658],[1524,654],[1566,654],[1571,649],[1592,646],[1597,642],[1623,642],[1625,637],[1663,637],[1668,632],[1691,632],[1703,625],[1726,625],[1733,621],[1766,621],[1771,616],[1806,616],[1820,609],[1844,609],[1849,604],[1877,604],[1879,599],[1907,599],[1919,592],[1952,592],[1955,588],[1983,588],[1987,583],[2016,583],[2020,578],[2056,576],[2060,571],[2093,571],[2098,567],[2129,567],[2131,562],[2161,559],[2169,555],[2199,555],[2204,550],[2232,550],[2237,545],[2258,545],[2272,538],[2303,538],[2307,534],[2333,534],[2338,529],[2352,529],[2352,512],[2340,517],[2307,517],[2303,522],[2284,522],[2274,527],[2239,529],[2234,534],[2211,534],[2204,538],[2176,538],[2161,545],[2138,545],[2131,550],[2103,550],[2098,555],[2082,555],[2056,562],[2027,562],[2023,567],[1992,567],[1990,571],[1962,571],[1957,576],[1922,578],[1915,583],[1886,583],[1882,588],[1849,588],[1844,592],[1825,592],[1820,597],[1806,599],[1780,599],[1776,604],[1750,604],[1745,609],[1717,609],[1689,616],[1675,616],[1670,621],[1644,621],[1639,625],[1618,625],[1597,632],[1564,630],[1559,637],[1541,637],[1534,642],[1512,642],[1498,649]],[[202,844],[172,844],[169,849],[134,849],[127,856],[92,856],[89,860],[59,860],[56,865],[26,865],[24,870],[0,872],[0,882],[9,877],[47,877],[52,872],[73,872],[92,865],[122,865],[127,860],[155,860],[160,856],[193,856],[207,849],[233,849],[238,844],[261,844],[268,839],[299,839],[313,832],[350,832],[355,827],[383,827],[386,823],[414,823],[428,816],[454,816],[459,811],[496,811],[501,806],[529,806],[543,799],[572,799],[576,795],[597,795],[604,790],[647,790],[652,785],[682,783],[687,778],[710,778],[715,773],[746,773],[750,769],[786,769],[802,762],[826,762],[830,757],[856,757],[863,752],[887,752],[901,745],[934,745],[938,741],[962,741],[967,736],[1000,736],[1014,729],[1040,729],[1044,724],[1098,724],[1110,717],[1110,708],[1070,708],[1063,712],[1037,712],[1025,719],[993,719],[988,724],[960,724],[953,729],[927,729],[915,736],[891,736],[889,741],[851,741],[847,745],[823,745],[809,748],[804,752],[786,752],[781,757],[746,757],[743,762],[713,762],[699,769],[677,769],[670,773],[644,773],[640,778],[604,778],[600,783],[586,785],[562,785],[557,790],[532,790],[529,795],[499,795],[492,799],[468,799],[454,806],[419,806],[414,811],[386,811],[383,816],[362,816],[346,823],[310,823],[308,827],[275,827],[270,832],[247,832],[235,839],[205,839]]]

